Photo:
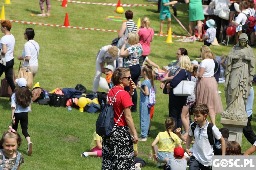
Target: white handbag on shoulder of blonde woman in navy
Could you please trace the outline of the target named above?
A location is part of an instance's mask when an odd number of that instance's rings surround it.
[[[186,76],[187,76],[187,71]],[[172,89],[175,96],[191,96],[193,94],[195,87],[194,81],[189,81],[188,76],[187,80],[182,80],[175,88]]]

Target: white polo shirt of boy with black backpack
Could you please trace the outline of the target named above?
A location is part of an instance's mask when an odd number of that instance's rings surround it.
[[[193,122],[194,123],[194,122]],[[189,126],[189,135],[193,136],[193,132],[191,129],[191,123]],[[196,158],[199,163],[203,164],[204,166],[211,166],[212,165],[212,156],[213,148],[212,145],[210,145],[208,136],[207,136],[207,127],[209,125],[209,122],[207,121],[205,126],[201,129],[200,133],[200,139],[199,139],[199,125],[196,125],[195,131],[194,131],[194,137],[195,142],[193,144],[192,150],[192,156]],[[214,125],[212,127],[212,133],[213,133],[213,139],[221,139],[221,132],[219,132],[219,129]]]

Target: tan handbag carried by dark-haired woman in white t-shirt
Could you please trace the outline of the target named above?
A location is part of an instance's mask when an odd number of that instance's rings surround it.
[[[21,61],[20,61],[19,72],[18,72],[16,79],[21,78],[21,77],[25,78],[27,80],[27,87],[30,89],[33,86],[33,73],[31,72],[29,62],[28,62],[27,68],[23,67],[24,62],[25,62],[25,59],[23,59],[22,66],[20,66],[20,64],[21,64]]]

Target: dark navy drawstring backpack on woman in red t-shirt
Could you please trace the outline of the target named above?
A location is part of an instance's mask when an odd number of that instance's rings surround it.
[[[123,91],[123,90],[119,90],[119,91]],[[119,92],[118,91],[118,92]],[[117,93],[118,93],[117,92]],[[99,117],[96,121],[96,133],[101,136],[101,137],[106,137],[109,136],[113,130],[115,129],[117,123],[119,122],[121,116],[123,115],[124,111],[122,112],[122,114],[120,115],[119,119],[117,120],[115,126],[114,126],[114,110],[113,110],[113,103],[115,101],[116,95],[115,97],[112,99],[112,102],[109,104],[109,93],[107,95],[107,102],[106,104],[103,106],[103,108],[100,111]]]

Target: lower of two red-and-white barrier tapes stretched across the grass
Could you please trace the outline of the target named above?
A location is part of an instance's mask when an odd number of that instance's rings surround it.
[[[107,29],[98,29],[98,28],[86,28],[86,27],[73,27],[73,26],[63,26],[63,25],[56,25],[56,24],[43,24],[43,23],[38,23],[38,22],[15,21],[15,20],[10,20],[10,22],[22,23],[22,24],[32,24],[32,25],[42,25],[42,26],[52,26],[52,27],[76,28],[76,29],[83,29],[83,30],[119,32],[117,30],[107,30]],[[168,36],[168,35],[160,35],[160,34],[154,34],[154,35],[155,36]],[[190,38],[190,37],[187,37],[187,36],[177,36],[177,35],[172,35],[172,37],[175,37],[175,38]]]

